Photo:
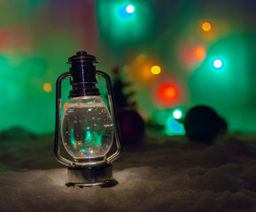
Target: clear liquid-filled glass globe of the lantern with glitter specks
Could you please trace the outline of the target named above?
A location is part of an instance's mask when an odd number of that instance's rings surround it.
[[[69,100],[62,118],[61,136],[67,153],[75,160],[104,160],[112,147],[113,124],[99,95]]]

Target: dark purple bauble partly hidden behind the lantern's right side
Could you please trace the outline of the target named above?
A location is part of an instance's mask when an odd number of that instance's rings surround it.
[[[119,110],[117,117],[124,146],[140,145],[144,137],[144,120],[136,110]]]

